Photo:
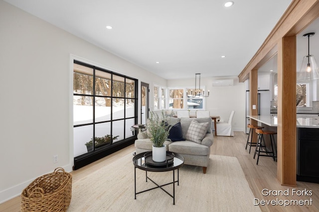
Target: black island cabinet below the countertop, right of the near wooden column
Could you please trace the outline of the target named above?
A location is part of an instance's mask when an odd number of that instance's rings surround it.
[[[319,128],[297,128],[297,181],[319,183]]]

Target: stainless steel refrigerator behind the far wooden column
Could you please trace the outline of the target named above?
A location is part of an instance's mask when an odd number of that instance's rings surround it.
[[[258,90],[258,115],[259,116],[270,116],[270,91],[269,90]],[[246,91],[246,126],[250,123],[249,118],[249,90]],[[249,133],[249,129],[246,127],[246,133]]]

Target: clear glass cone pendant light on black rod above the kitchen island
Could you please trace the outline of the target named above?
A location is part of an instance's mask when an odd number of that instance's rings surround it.
[[[314,32],[304,34],[304,37],[308,37],[308,55],[304,57],[304,60],[301,64],[300,72],[297,78],[298,80],[319,79],[319,69],[315,57],[309,54],[309,37],[313,36],[314,34]]]

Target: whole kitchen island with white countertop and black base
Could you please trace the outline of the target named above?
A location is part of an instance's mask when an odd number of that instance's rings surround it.
[[[248,116],[259,122],[263,130],[277,132],[277,114]],[[297,181],[319,183],[319,115],[297,114]],[[266,148],[270,141],[265,139]],[[277,136],[275,136],[277,146]],[[276,148],[277,151],[277,148]],[[276,152],[277,154],[277,152]]]

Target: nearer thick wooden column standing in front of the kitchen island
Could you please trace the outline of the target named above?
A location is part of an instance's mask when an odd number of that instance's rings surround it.
[[[278,42],[277,178],[296,186],[296,36]]]

